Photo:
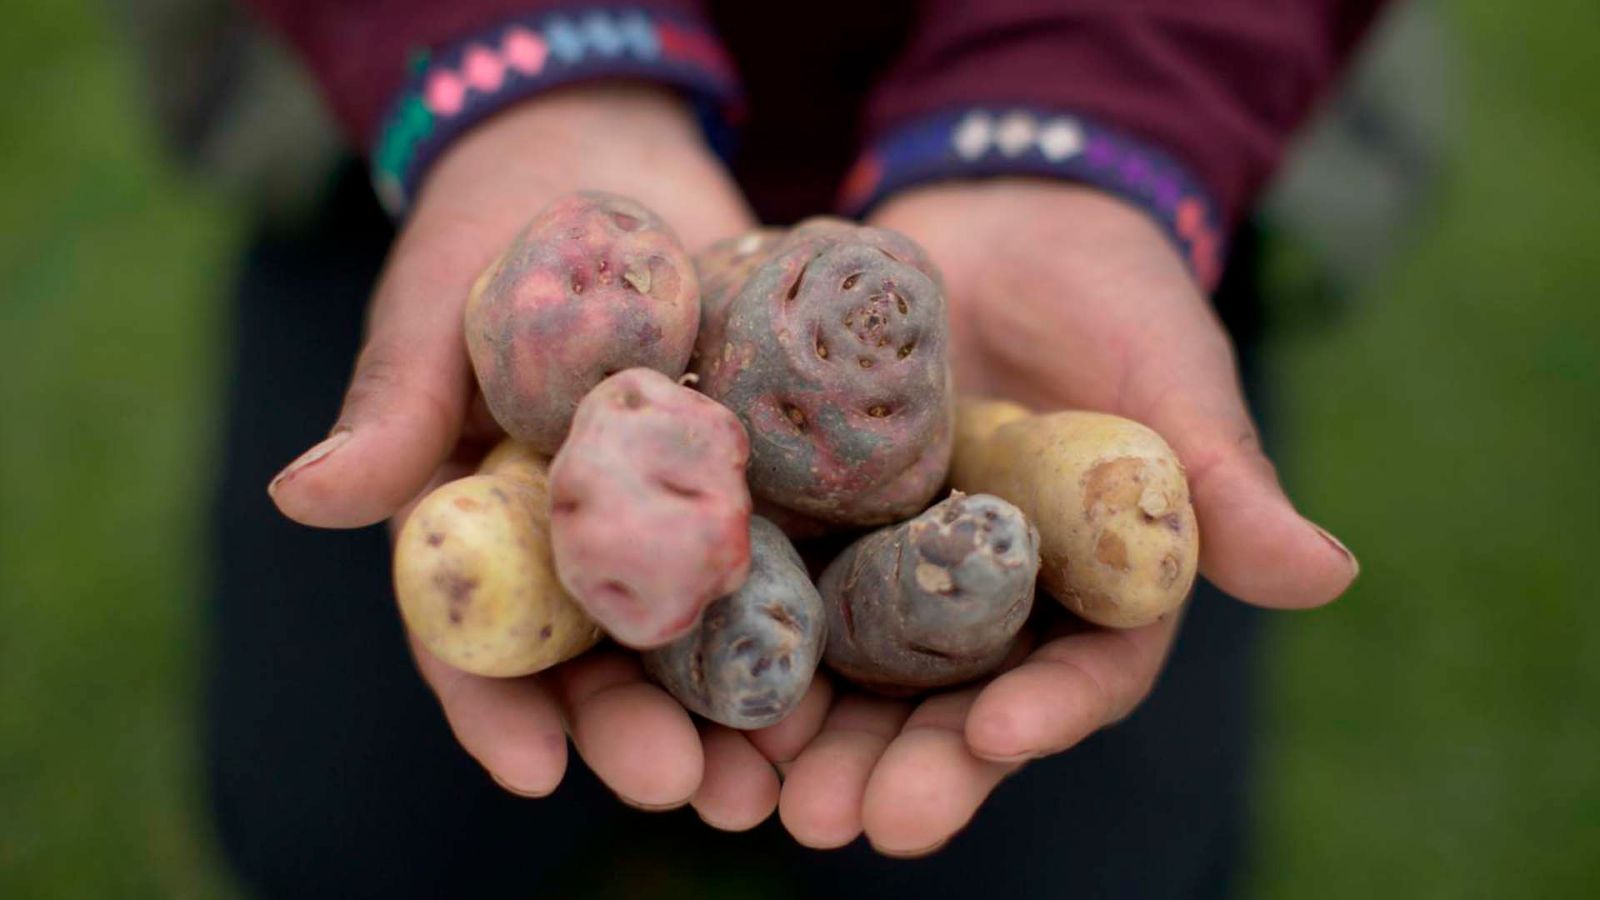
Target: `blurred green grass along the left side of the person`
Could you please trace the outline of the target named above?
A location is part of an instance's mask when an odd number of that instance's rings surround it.
[[[0,895],[214,897],[195,546],[235,229],[88,5],[10,5],[0,59]]]

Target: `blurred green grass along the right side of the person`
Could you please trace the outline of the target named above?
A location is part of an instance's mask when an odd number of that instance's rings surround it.
[[[1600,34],[1453,3],[1466,131],[1334,333],[1275,348],[1298,496],[1360,554],[1278,625],[1261,897],[1600,884]]]

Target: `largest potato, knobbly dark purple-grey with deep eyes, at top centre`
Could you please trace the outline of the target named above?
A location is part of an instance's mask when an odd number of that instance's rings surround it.
[[[878,525],[917,514],[944,484],[947,335],[942,285],[915,243],[811,219],[710,304],[694,373],[744,421],[758,500]]]

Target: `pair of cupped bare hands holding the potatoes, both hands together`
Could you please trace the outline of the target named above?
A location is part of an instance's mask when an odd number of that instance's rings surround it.
[[[602,189],[658,211],[694,253],[755,224],[674,94],[594,85],[526,101],[461,138],[429,173],[371,298],[366,341],[331,436],[270,493],[291,519],[398,524],[470,471],[496,429],[475,396],[462,304],[478,272],[547,200]],[[1338,597],[1357,573],[1301,517],[1261,452],[1232,344],[1170,240],[1093,189],[989,179],[910,189],[872,224],[922,243],[944,274],[963,392],[1118,413],[1187,468],[1202,573],[1275,609]],[[1155,684],[1178,617],[1131,631],[1042,634],[984,684],[885,700],[819,673],[758,732],[698,722],[621,650],[518,679],[451,669],[413,641],[450,727],[507,791],[560,785],[568,737],[622,802],[691,804],[715,828],[778,810],[794,838],[862,833],[890,855],[950,839],[1002,778],[1128,716]]]

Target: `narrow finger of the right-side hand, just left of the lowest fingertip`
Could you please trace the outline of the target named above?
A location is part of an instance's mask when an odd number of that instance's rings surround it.
[[[867,778],[909,714],[904,701],[861,693],[838,700],[778,796],[778,818],[795,841],[826,850],[861,834]]]

